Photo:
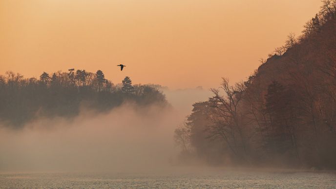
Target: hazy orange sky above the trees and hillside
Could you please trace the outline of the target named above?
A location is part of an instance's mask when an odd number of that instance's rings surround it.
[[[101,69],[169,88],[244,80],[320,0],[0,0],[0,74]],[[116,65],[126,64],[124,71]]]

